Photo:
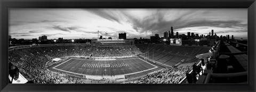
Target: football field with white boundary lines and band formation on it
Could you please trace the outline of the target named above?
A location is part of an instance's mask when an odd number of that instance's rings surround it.
[[[53,67],[53,69],[63,72],[92,76],[128,75],[155,68],[157,68],[157,66],[150,64],[141,58],[101,61],[69,58],[69,60]]]

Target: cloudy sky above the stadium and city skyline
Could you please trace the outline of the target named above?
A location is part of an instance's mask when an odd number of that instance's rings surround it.
[[[194,32],[207,35],[213,29],[218,36],[234,35],[247,39],[247,9],[10,9],[9,35],[32,39],[127,38],[163,36]]]

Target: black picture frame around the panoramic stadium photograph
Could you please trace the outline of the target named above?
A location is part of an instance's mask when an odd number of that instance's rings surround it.
[[[255,91],[255,0],[1,0],[1,91]],[[8,84],[9,8],[247,8],[248,84]]]

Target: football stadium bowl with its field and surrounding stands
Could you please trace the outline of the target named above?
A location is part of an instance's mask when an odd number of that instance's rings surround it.
[[[118,47],[85,44],[30,45],[10,47],[9,62],[18,66],[27,80],[35,83],[65,83],[65,80],[66,83],[123,83],[149,74],[170,71],[170,68],[181,62],[197,62],[195,55],[209,50],[209,47],[161,44]],[[174,70],[172,76],[175,75],[177,79],[168,83],[180,82],[186,76],[185,72],[191,70],[191,66]]]

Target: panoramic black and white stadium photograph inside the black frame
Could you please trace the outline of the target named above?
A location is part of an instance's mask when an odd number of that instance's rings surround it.
[[[9,83],[247,84],[247,14],[10,8]]]

